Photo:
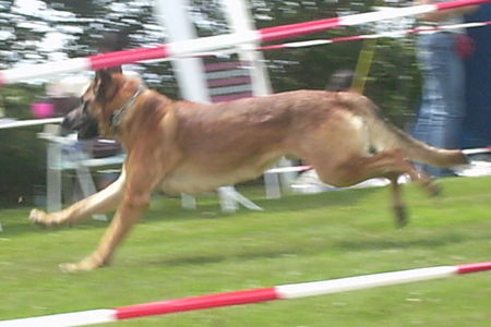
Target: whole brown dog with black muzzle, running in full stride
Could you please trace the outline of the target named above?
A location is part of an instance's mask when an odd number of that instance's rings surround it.
[[[397,130],[356,93],[297,90],[205,105],[171,100],[142,87],[140,80],[99,71],[83,106],[64,124],[88,137],[97,132],[87,129],[95,122],[128,152],[120,178],[64,210],[31,213],[35,222],[60,225],[117,208],[99,247],[80,263],[63,265],[69,271],[106,265],[157,187],[169,193],[211,191],[256,178],[284,155],[297,156],[336,186],[390,179],[403,225],[397,177],[408,173],[435,192],[407,158],[441,167],[467,162],[459,150],[430,147]]]

